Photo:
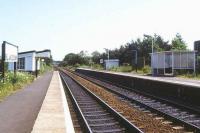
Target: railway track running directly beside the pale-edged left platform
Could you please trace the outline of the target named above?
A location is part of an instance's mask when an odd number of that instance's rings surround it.
[[[73,77],[63,72],[60,72],[60,75],[82,132],[142,132]]]

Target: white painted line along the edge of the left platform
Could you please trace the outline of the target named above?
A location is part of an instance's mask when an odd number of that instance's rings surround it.
[[[59,73],[57,73],[57,74],[58,74],[58,78],[59,78],[62,101],[63,101],[66,133],[75,133],[74,126],[73,126],[72,119],[71,119],[71,115],[70,115],[70,111],[69,111],[69,106],[68,106],[68,103],[67,103],[67,100],[66,100],[66,95],[65,95],[65,92],[64,92],[64,87],[63,87],[61,79],[60,79],[60,74]]]

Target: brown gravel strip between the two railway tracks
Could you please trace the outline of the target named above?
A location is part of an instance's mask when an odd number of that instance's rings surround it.
[[[65,71],[65,70],[64,70]],[[87,81],[77,75],[72,74],[71,72],[65,71],[68,75],[75,78],[79,83],[87,87],[90,91],[94,92],[101,99],[103,99],[106,103],[108,103],[111,107],[113,107],[116,111],[122,112],[129,121],[135,124],[144,132],[160,132],[160,133],[177,133],[181,132],[179,130],[175,130],[169,124],[163,124],[162,120],[156,120],[152,116],[147,115],[146,113],[130,107],[130,105],[124,101],[118,99],[118,97],[114,96],[112,93],[108,92],[102,87],[99,87],[90,81]]]

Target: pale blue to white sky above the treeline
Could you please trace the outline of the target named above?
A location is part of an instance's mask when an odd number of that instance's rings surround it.
[[[19,51],[51,49],[54,60],[81,50],[114,49],[143,34],[189,49],[200,40],[199,0],[0,0],[0,43]]]

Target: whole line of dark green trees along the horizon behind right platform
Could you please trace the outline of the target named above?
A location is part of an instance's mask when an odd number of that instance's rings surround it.
[[[170,51],[170,50],[187,50],[187,45],[179,33],[171,42],[165,41],[160,35],[154,34],[143,35],[138,38],[121,45],[119,48],[109,49],[110,59],[119,59],[120,65],[131,65],[134,62],[134,52],[137,51],[138,67],[150,65],[150,53],[153,51]],[[88,55],[87,51],[80,53],[69,53],[65,55],[61,66],[66,65],[91,65],[100,64],[100,59],[107,59],[107,52],[100,53],[97,50]]]

